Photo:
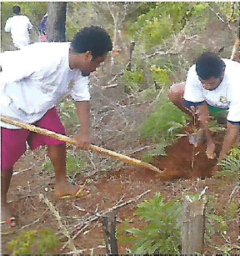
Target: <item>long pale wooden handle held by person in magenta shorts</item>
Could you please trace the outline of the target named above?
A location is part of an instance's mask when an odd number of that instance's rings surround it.
[[[47,136],[52,137],[52,138],[57,138],[58,140],[61,140],[65,143],[70,143],[72,145],[77,146],[77,142],[73,138],[69,138],[69,137],[67,137],[65,135],[62,135],[62,134],[54,133],[54,132],[49,131],[47,129],[36,127],[32,124],[19,122],[18,120],[15,120],[13,118],[8,118],[8,117],[5,117],[5,116],[1,116],[1,121],[4,122],[4,123],[13,124],[17,127],[29,130],[33,133],[39,133],[39,134],[42,134],[42,135],[47,135]],[[130,164],[133,164],[133,165],[138,166],[138,167],[148,168],[148,169],[150,169],[154,172],[162,173],[161,170],[159,170],[157,167],[153,166],[152,164],[142,162],[142,161],[140,161],[136,158],[130,158],[128,156],[123,155],[122,153],[116,153],[116,152],[113,152],[109,149],[97,147],[97,146],[92,145],[92,144],[90,145],[90,149],[92,149],[92,151],[94,151],[94,152],[107,155],[110,158],[116,158],[116,159],[118,159],[118,160],[120,160],[124,163],[130,163]]]

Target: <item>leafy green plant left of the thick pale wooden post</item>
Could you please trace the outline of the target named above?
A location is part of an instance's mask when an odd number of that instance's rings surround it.
[[[128,228],[128,223],[123,223],[118,233],[120,243],[133,243],[132,253],[179,253],[181,244],[181,218],[182,207],[180,202],[169,200],[163,202],[160,193],[149,201],[138,205],[136,214],[143,219],[147,225],[142,229]],[[120,234],[128,236],[123,237]],[[120,236],[120,237],[119,237]]]

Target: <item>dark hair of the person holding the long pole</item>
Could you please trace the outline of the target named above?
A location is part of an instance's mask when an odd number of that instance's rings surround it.
[[[73,53],[92,52],[92,59],[101,57],[112,51],[112,40],[106,30],[101,27],[82,28],[72,39]]]

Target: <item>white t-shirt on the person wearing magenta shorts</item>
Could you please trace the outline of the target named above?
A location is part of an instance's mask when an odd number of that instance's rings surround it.
[[[88,101],[89,78],[69,68],[69,48],[68,42],[32,43],[18,51],[0,53],[2,115],[35,123],[68,94],[75,101]]]

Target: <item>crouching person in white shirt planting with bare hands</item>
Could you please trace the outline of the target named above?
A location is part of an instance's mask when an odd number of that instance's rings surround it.
[[[219,154],[220,163],[239,140],[240,123],[240,63],[220,58],[215,53],[203,53],[188,70],[186,83],[176,83],[169,89],[169,99],[184,113],[197,114],[207,138],[206,154],[215,158],[215,142],[208,129],[210,114],[226,113],[227,133]],[[218,170],[218,165],[213,169]]]

